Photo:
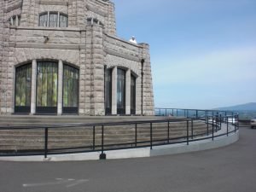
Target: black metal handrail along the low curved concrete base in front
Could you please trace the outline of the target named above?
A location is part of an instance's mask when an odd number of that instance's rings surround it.
[[[157,108],[159,110],[159,108]],[[166,109],[164,109],[166,110]],[[189,109],[184,109],[186,112]],[[201,111],[201,110],[197,110]],[[211,111],[211,110],[208,110]],[[198,112],[196,112],[198,113]],[[187,113],[188,114],[188,113]],[[213,113],[214,114],[214,113]],[[167,113],[166,113],[167,116]],[[232,119],[232,122],[229,121]],[[207,125],[207,131],[203,134],[196,134],[194,131],[195,122],[202,121]],[[234,122],[233,122],[234,121]],[[185,122],[186,127],[185,135],[183,137],[170,137],[170,123],[178,123]],[[212,116],[206,117],[195,117],[195,118],[183,118],[183,119],[160,119],[160,120],[137,120],[137,121],[123,121],[123,122],[109,122],[109,123],[95,123],[95,124],[55,124],[55,125],[36,125],[36,126],[0,126],[0,130],[44,130],[44,149],[41,150],[23,150],[16,151],[15,153],[10,153],[9,151],[4,153],[4,151],[0,151],[0,156],[18,156],[18,155],[44,155],[45,158],[49,154],[74,154],[74,153],[86,153],[99,151],[100,159],[106,159],[105,151],[108,150],[117,150],[117,149],[125,149],[125,148],[153,148],[154,146],[166,145],[166,144],[174,144],[174,143],[189,143],[195,141],[201,141],[211,138],[212,141],[215,137],[220,137],[226,135],[227,137],[232,133],[236,132],[239,129],[238,125],[238,115],[232,113],[231,115],[222,115],[221,113],[214,114]],[[227,127],[227,131],[224,134],[214,134],[218,130],[221,129],[222,124],[225,124]],[[155,139],[154,136],[154,125],[156,124],[165,124],[166,125],[166,138],[164,139]],[[230,130],[229,125],[232,124],[235,127],[235,130]],[[134,126],[134,142],[128,143],[105,143],[105,134],[104,131],[108,131],[109,126],[117,126],[117,125],[132,125]],[[148,125],[149,137],[144,141],[138,141],[138,129],[137,125]],[[106,127],[108,126],[108,127]],[[79,128],[81,130],[84,129],[92,129],[93,133],[90,139],[92,139],[92,146],[79,146],[79,147],[67,147],[67,148],[49,148],[49,130],[58,130],[58,129],[66,129],[66,128]],[[96,143],[96,128],[100,128],[101,136],[100,143]],[[204,137],[201,137],[204,136]],[[97,135],[99,137],[99,135]]]

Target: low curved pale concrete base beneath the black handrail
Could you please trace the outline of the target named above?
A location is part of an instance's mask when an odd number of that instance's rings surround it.
[[[220,131],[222,132],[222,131]],[[219,134],[219,132],[218,132]],[[191,142],[189,145],[186,143],[170,144],[165,146],[157,146],[150,148],[131,148],[124,150],[104,151],[107,160],[110,159],[127,159],[127,158],[139,158],[150,157],[167,154],[183,154],[195,151],[202,151],[212,148],[221,148],[232,143],[236,143],[239,140],[239,131],[227,136],[207,139],[198,142]],[[99,160],[101,152],[91,152],[84,154],[58,154],[49,155],[48,158],[42,156],[18,156],[18,157],[0,157],[0,160],[9,161],[67,161],[67,160]]]

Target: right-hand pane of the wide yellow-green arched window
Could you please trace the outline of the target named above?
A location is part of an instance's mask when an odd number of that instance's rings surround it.
[[[63,113],[78,113],[79,69],[64,65],[63,70]]]

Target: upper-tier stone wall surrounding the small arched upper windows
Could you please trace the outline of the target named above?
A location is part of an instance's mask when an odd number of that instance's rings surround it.
[[[13,4],[9,7],[16,8],[20,5]],[[104,32],[113,35],[116,33],[114,5],[102,0],[23,0],[21,26],[38,26],[39,15],[47,11],[67,14],[68,26],[83,28],[87,18],[91,17],[102,22]]]

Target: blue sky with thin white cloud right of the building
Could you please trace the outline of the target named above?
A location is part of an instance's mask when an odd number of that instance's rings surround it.
[[[119,38],[150,44],[154,104],[256,102],[256,0],[113,0]]]

